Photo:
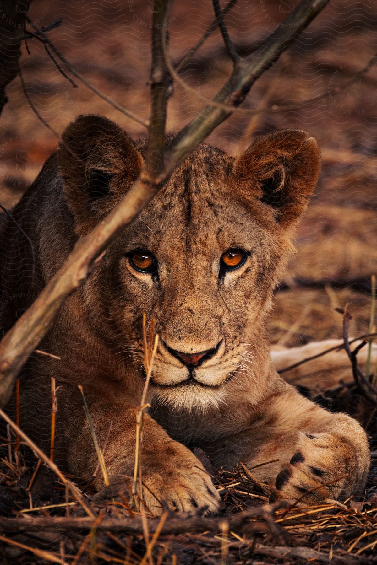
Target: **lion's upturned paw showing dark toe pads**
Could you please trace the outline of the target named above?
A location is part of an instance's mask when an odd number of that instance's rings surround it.
[[[296,453],[272,486],[270,502],[311,506],[338,499],[349,483],[346,444],[329,433],[301,433]]]

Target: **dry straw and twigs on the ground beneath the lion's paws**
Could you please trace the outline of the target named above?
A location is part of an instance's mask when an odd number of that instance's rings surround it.
[[[197,453],[205,458],[203,453]],[[24,486],[30,472],[3,458],[1,464],[0,546],[11,563],[374,563],[377,545],[377,451],[366,501],[287,509],[268,505],[268,486],[239,464],[214,475],[223,498],[219,516],[201,518],[164,512],[153,518],[129,509],[129,499],[111,501],[81,484],[93,518],[68,498],[62,483],[48,477],[44,501],[33,489],[31,502]],[[208,466],[209,462],[206,462]],[[71,477],[75,480],[75,477]],[[77,480],[77,478],[76,478]],[[11,498],[12,497],[12,498]],[[49,498],[49,501],[47,501]],[[47,503],[49,502],[49,503]],[[24,511],[22,511],[24,510]],[[145,528],[148,532],[145,536]],[[252,561],[250,561],[250,559]]]

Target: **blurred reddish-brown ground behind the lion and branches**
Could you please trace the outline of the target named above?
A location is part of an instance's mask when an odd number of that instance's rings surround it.
[[[225,6],[221,2],[222,8]],[[239,0],[226,16],[240,55],[261,44],[297,4]],[[108,97],[148,118],[150,0],[33,0],[38,27],[61,18],[48,35],[85,79]],[[213,21],[210,0],[175,0],[170,59],[177,64]],[[27,29],[30,29],[29,25]],[[23,45],[21,75],[42,118],[61,134],[77,115],[94,112],[131,136],[142,127],[74,79],[73,88],[36,39]],[[377,3],[332,0],[293,46],[254,85],[242,110],[209,142],[236,155],[253,137],[281,128],[305,129],[318,140],[323,168],[297,233],[297,254],[275,293],[271,341],[293,346],[341,337],[348,305],[350,335],[370,325],[371,275],[377,273]],[[366,68],[367,67],[367,68]],[[363,72],[363,70],[366,70]],[[180,72],[168,106],[168,129],[180,129],[213,97],[231,72],[216,30]],[[7,87],[1,119],[0,203],[11,208],[57,149],[57,138],[29,105],[20,77]],[[247,111],[245,111],[247,110]]]

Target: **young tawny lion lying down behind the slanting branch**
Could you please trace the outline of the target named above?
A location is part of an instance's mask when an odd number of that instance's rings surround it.
[[[134,143],[100,116],[79,116],[67,127],[5,226],[3,329],[131,186],[145,150],[145,141]],[[60,467],[90,477],[97,465],[80,384],[100,445],[112,420],[109,477],[130,488],[146,312],[159,345],[143,428],[142,494],[155,514],[162,502],[173,510],[218,508],[195,446],[218,467],[274,460],[253,470],[270,481],[274,499],[311,505],[363,487],[370,462],[363,429],[278,376],[265,330],[319,169],[317,143],[302,131],[258,138],[238,158],[202,144],[116,238],[40,346],[60,360],[33,355],[21,378],[21,427],[46,450],[50,377],[57,380]]]

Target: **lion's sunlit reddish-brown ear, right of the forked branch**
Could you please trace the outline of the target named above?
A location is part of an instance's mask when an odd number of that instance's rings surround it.
[[[242,192],[270,205],[285,227],[306,210],[319,177],[319,148],[306,132],[281,129],[257,138],[235,160],[233,172]]]

